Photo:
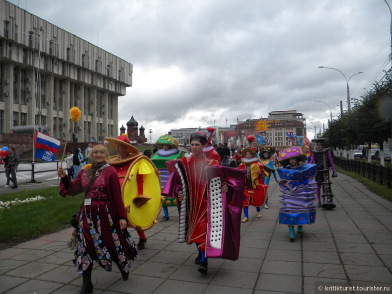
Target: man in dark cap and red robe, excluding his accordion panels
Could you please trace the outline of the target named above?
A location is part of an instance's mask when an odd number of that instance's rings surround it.
[[[207,175],[206,167],[219,165],[216,160],[210,160],[203,156],[203,149],[206,146],[207,138],[203,133],[193,133],[190,138],[193,156],[182,157],[181,160],[186,167],[189,183],[189,220],[186,243],[196,243],[199,255],[195,259],[196,264],[200,264],[199,272],[207,274],[206,238],[208,225],[208,196],[207,196]],[[222,193],[228,192],[226,183],[222,185]],[[167,197],[177,197],[177,202],[183,200],[181,183],[175,176],[174,171],[167,181],[162,195]]]

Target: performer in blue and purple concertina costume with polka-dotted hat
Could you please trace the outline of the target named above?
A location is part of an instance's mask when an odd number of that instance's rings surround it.
[[[290,240],[295,240],[294,226],[298,225],[297,233],[303,232],[303,225],[313,224],[316,217],[314,205],[317,166],[315,164],[300,163],[306,160],[306,154],[301,147],[294,146],[280,152],[278,168],[281,180],[282,203],[279,208],[279,223],[286,224],[290,230]]]

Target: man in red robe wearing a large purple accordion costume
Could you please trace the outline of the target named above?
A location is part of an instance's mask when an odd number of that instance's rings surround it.
[[[204,157],[202,150],[206,143],[207,138],[203,133],[193,133],[190,137],[193,155],[166,162],[171,175],[162,191],[163,196],[177,197],[180,207],[178,241],[196,244],[199,254],[195,263],[200,264],[198,271],[202,274],[207,274],[207,257],[238,258],[239,221],[244,200],[243,184],[241,186],[243,171],[220,166],[216,160]],[[227,172],[232,171],[233,174],[227,176]],[[217,178],[214,172],[222,172],[224,176]],[[211,174],[214,176],[210,181]],[[233,206],[225,205],[226,199]],[[224,219],[223,213],[226,216]],[[225,225],[228,225],[227,237]],[[216,247],[212,248],[211,242],[216,242]],[[220,248],[218,255],[214,251],[217,248]]]

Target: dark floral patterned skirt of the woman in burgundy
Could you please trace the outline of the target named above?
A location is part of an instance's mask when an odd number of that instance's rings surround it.
[[[95,200],[82,206],[78,214],[78,240],[75,247],[74,264],[79,275],[88,268],[92,260],[107,271],[113,262],[125,272],[131,261],[139,260],[138,248],[128,230],[121,230],[119,219],[109,201]]]

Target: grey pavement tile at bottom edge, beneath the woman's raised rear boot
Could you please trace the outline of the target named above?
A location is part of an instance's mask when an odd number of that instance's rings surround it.
[[[159,285],[164,282],[162,278],[154,278],[147,276],[129,276],[128,281],[122,279],[114,283],[106,289],[107,292],[120,292],[120,293],[140,293],[150,294],[153,293]],[[166,292],[167,293],[167,292]]]

